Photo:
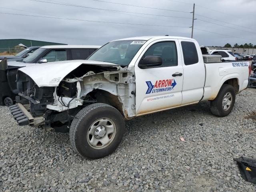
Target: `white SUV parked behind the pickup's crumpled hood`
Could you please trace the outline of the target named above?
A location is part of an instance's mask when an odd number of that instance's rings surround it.
[[[30,66],[40,63],[78,60],[88,58],[100,46],[96,45],[50,45],[43,46],[34,54],[19,62],[8,62],[8,66]]]

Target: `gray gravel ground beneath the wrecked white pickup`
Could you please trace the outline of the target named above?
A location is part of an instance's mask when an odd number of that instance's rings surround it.
[[[232,113],[212,116],[209,103],[126,122],[118,149],[88,160],[68,134],[18,126],[0,107],[0,191],[255,192],[233,158],[256,158],[256,90],[237,95]],[[180,141],[183,137],[185,141]]]

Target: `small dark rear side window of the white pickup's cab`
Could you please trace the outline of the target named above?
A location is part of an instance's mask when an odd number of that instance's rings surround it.
[[[193,42],[182,41],[182,52],[185,65],[192,65],[198,63],[198,53],[196,51],[196,45]]]

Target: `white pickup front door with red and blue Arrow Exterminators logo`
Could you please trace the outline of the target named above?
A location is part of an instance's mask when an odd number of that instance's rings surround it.
[[[151,42],[135,64],[136,115],[180,106],[182,102],[183,67],[177,39]],[[142,69],[145,56],[160,56],[162,65]]]

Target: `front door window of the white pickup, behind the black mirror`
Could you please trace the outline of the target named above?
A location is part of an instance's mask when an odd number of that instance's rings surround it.
[[[152,45],[145,52],[146,56],[159,56],[162,58],[163,64],[159,67],[177,66],[177,50],[175,42],[159,42]]]

